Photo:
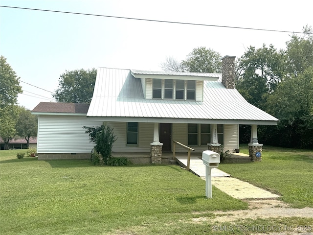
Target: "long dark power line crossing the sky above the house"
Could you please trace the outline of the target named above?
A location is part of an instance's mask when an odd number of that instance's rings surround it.
[[[16,6],[1,6],[0,5],[0,7],[8,7],[8,8],[15,8],[15,9],[23,9],[23,10],[34,10],[34,11],[46,11],[46,12],[55,12],[55,13],[76,14],[76,15],[85,15],[85,16],[109,17],[109,18],[118,18],[118,19],[124,19],[124,20],[149,21],[149,22],[170,23],[170,24],[188,24],[188,25],[198,25],[198,26],[210,26],[210,27],[223,27],[223,28],[236,28],[236,29],[261,30],[261,31],[270,31],[270,32],[281,32],[281,33],[302,33],[302,34],[304,34],[304,32],[285,31],[285,30],[235,27],[235,26],[214,25],[214,24],[196,24],[196,23],[175,22],[175,21],[160,21],[160,20],[149,20],[149,19],[140,19],[140,18],[131,18],[131,17],[121,17],[121,16],[107,16],[107,15],[88,14],[88,13],[69,12],[69,11],[54,11],[54,10],[35,9],[35,8],[16,7]],[[306,34],[313,34],[313,33],[306,33]]]

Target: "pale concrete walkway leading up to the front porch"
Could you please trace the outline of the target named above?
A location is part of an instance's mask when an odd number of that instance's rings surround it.
[[[187,156],[177,156],[176,161],[183,167],[187,166]],[[187,168],[187,167],[186,167]],[[205,180],[205,165],[198,157],[190,157],[190,171]],[[262,188],[255,187],[247,182],[232,178],[224,171],[213,168],[211,171],[212,185],[224,191],[233,198],[277,198],[276,194]]]

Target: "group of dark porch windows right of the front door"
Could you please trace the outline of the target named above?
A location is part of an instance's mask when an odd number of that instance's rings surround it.
[[[218,141],[224,144],[224,125],[217,125]],[[188,145],[206,145],[211,142],[211,124],[188,124]]]

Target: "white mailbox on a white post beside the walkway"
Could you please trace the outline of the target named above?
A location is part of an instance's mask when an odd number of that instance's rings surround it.
[[[202,162],[205,165],[205,195],[212,198],[212,168],[218,167],[220,163],[220,154],[211,150],[202,152]]]

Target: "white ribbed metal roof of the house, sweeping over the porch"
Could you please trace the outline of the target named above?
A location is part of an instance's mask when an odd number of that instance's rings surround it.
[[[145,71],[140,71],[144,74]],[[156,72],[146,71],[149,74]],[[170,75],[169,72],[157,72]],[[221,74],[203,83],[203,101],[145,99],[134,71],[98,68],[88,119],[107,121],[277,124],[278,119],[249,104],[235,89],[226,89]],[[139,73],[137,73],[139,74]],[[188,73],[188,78],[193,73]]]

